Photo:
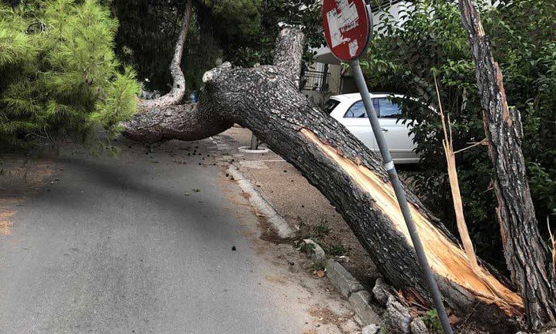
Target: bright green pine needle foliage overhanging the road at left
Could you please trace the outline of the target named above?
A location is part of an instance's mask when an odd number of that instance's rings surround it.
[[[31,2],[0,3],[0,148],[111,138],[140,92],[113,51],[117,20],[95,0]]]

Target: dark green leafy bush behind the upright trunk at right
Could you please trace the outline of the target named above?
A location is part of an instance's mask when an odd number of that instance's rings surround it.
[[[534,205],[541,230],[548,232],[546,217],[556,220],[556,5],[551,0],[501,1],[497,6],[483,3],[481,12],[502,68],[508,102],[521,111]],[[418,100],[398,101],[404,116],[414,120],[412,131],[422,157],[423,172],[414,176],[413,184],[427,206],[457,231],[439,115],[423,107],[437,109],[436,74],[443,107],[452,121],[455,150],[484,138],[475,65],[457,1],[414,1],[402,11],[401,23],[386,11],[380,15],[382,22],[365,63],[368,84]],[[505,267],[486,148],[480,145],[457,154],[457,166],[478,253]]]

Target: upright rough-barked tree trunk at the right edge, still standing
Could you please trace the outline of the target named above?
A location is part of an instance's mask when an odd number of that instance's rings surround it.
[[[539,234],[521,150],[521,115],[508,108],[502,72],[492,56],[474,1],[459,0],[459,8],[475,58],[484,130],[496,170],[493,183],[506,262],[512,282],[523,296],[528,323],[538,329],[555,321],[556,309],[547,271],[548,248]]]

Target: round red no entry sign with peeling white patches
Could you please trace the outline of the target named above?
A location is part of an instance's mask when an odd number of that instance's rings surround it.
[[[322,24],[332,54],[352,61],[365,51],[370,38],[370,14],[363,0],[325,0]]]

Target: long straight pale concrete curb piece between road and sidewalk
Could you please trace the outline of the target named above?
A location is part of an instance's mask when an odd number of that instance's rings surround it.
[[[259,214],[265,216],[268,223],[276,229],[278,236],[281,238],[291,238],[295,236],[294,230],[288,225],[288,223],[282,218],[276,210],[267,202],[263,196],[257,191],[253,184],[243,176],[240,170],[234,166],[229,166],[227,173],[234,177],[234,180],[238,183],[243,192],[250,195],[249,202],[256,209]]]

